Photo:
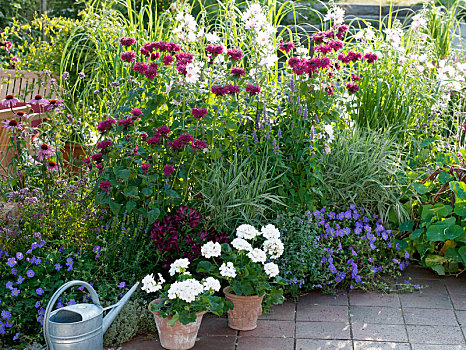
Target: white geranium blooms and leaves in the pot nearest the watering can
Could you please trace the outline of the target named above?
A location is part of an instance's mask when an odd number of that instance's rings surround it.
[[[195,322],[200,312],[212,312],[221,316],[232,308],[231,302],[216,296],[220,291],[220,281],[209,276],[202,280],[194,278],[188,271],[189,260],[178,259],[170,265],[169,274],[174,282],[166,283],[159,273],[147,275],[142,280],[142,290],[147,293],[158,292],[159,303],[151,303],[150,310],[161,317],[169,317],[173,326],[177,321],[186,325]]]

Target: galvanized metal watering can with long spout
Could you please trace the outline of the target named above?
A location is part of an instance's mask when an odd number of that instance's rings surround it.
[[[99,296],[89,283],[71,281],[61,286],[50,299],[44,315],[44,337],[49,350],[100,350],[104,333],[138,287],[136,283],[115,305],[103,308]],[[75,304],[52,312],[58,297],[68,288],[84,286],[94,304]],[[110,310],[103,317],[106,310]]]

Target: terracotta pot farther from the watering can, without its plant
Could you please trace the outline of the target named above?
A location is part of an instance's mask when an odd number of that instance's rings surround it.
[[[238,331],[250,331],[257,327],[257,318],[262,315],[264,296],[238,296],[223,289],[226,299],[233,302],[233,310],[228,310],[228,327]]]

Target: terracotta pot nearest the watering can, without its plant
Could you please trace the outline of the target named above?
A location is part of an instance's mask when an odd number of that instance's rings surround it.
[[[194,347],[197,338],[197,332],[201,326],[202,316],[206,313],[198,312],[196,322],[184,325],[180,321],[176,321],[173,326],[168,323],[170,317],[163,318],[160,313],[150,309],[151,304],[159,304],[162,299],[155,299],[149,304],[149,311],[154,314],[155,324],[159,332],[160,345],[168,350],[188,350]]]

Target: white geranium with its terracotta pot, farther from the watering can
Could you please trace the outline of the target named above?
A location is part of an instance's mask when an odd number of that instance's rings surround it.
[[[257,327],[266,294],[273,304],[283,302],[283,290],[273,286],[282,283],[278,265],[273,260],[283,254],[284,245],[280,231],[270,224],[261,231],[251,225],[240,225],[231,245],[233,249],[227,243],[206,243],[201,249],[202,255],[220,259],[214,263],[201,261],[197,272],[227,280],[229,285],[223,291],[234,305],[228,311],[228,326],[241,331],[252,330]],[[261,248],[257,248],[259,246]]]

